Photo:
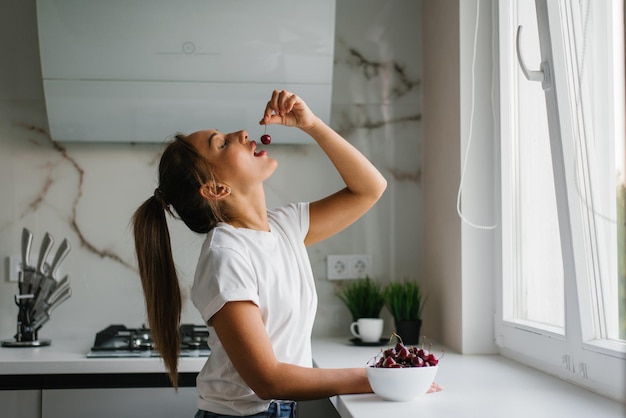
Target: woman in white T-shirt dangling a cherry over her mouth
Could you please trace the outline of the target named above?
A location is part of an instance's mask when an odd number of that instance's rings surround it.
[[[210,327],[211,347],[197,378],[196,417],[289,416],[292,403],[272,400],[372,391],[364,368],[312,368],[317,296],[306,246],[360,218],[387,182],[293,93],[274,91],[260,123],[309,134],[346,187],[315,202],[268,211],[263,182],[276,160],[256,151],[245,131],[209,129],[179,135],[168,145],[159,187],[133,217],[148,322],[175,387],[181,296],[165,211],[208,234],[191,296]]]

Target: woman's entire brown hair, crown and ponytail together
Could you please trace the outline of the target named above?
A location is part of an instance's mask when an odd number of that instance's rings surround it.
[[[178,134],[161,156],[159,187],[132,218],[148,324],[175,388],[182,297],[165,212],[197,233],[207,233],[226,221],[217,203],[200,195],[200,186],[209,181],[215,181],[210,164]]]

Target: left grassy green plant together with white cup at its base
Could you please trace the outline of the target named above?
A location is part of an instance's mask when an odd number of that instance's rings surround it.
[[[355,344],[375,344],[380,342],[384,320],[380,311],[385,306],[380,284],[369,277],[354,280],[343,286],[338,294],[352,314],[350,332],[356,338]]]

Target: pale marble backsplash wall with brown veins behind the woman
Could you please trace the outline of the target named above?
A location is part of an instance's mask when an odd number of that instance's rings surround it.
[[[421,4],[419,0],[337,0],[331,125],[366,154],[389,182],[356,224],[309,248],[319,309],[315,335],[348,337],[350,316],[326,279],[328,254],[371,254],[374,278],[419,279],[421,204]],[[130,217],[155,188],[160,145],[58,143],[47,135],[35,1],[0,4],[0,257],[19,256],[23,227],[72,252],[62,267],[73,294],[41,330],[43,338],[93,335],[145,322]],[[270,92],[268,91],[268,94]],[[306,97],[305,97],[306,99]],[[314,200],[341,186],[314,145],[271,146],[279,169],[268,206]],[[188,296],[203,237],[170,223]],[[0,281],[0,339],[15,333],[17,284]],[[183,321],[199,323],[192,304]],[[388,319],[388,328],[391,326]]]

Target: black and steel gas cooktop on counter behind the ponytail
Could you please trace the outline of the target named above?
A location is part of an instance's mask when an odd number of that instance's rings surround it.
[[[207,345],[209,330],[204,325],[182,324],[180,333],[180,357],[208,357],[211,349]],[[160,357],[154,349],[152,334],[148,328],[127,328],[110,325],[96,334],[88,358],[107,357]]]

